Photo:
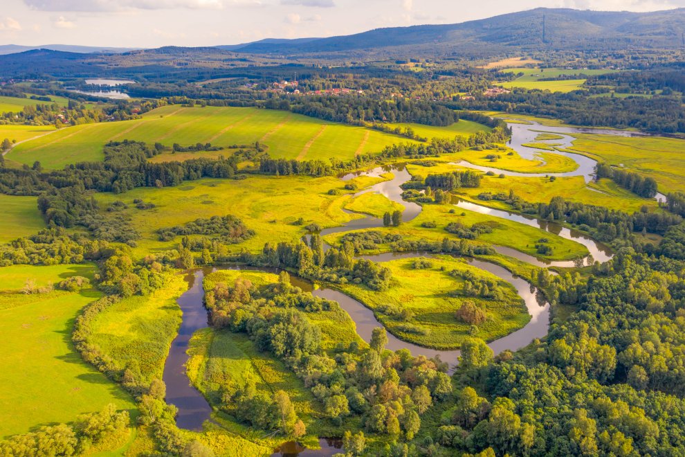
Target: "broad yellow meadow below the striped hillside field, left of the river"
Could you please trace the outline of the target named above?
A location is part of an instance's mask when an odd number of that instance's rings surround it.
[[[359,177],[351,182],[364,188],[381,180]],[[259,252],[266,242],[300,239],[305,233],[304,226],[311,222],[325,228],[362,217],[343,213],[349,194],[354,193],[345,190],[344,184],[335,177],[254,175],[241,180],[201,179],[173,188],[136,188],[124,194],[96,194],[95,197],[103,210],[116,200],[129,204],[129,209],[123,213],[131,216],[131,223],[143,235],[134,249],[138,256],[176,247],[180,238],[170,242],[158,241],[157,231],[160,228],[224,215],[239,217],[256,232],[253,238],[233,245],[233,249]],[[329,195],[331,189],[347,193]],[[132,204],[134,199],[154,203],[156,208],[138,210]],[[294,224],[300,217],[304,219],[304,226]]]

